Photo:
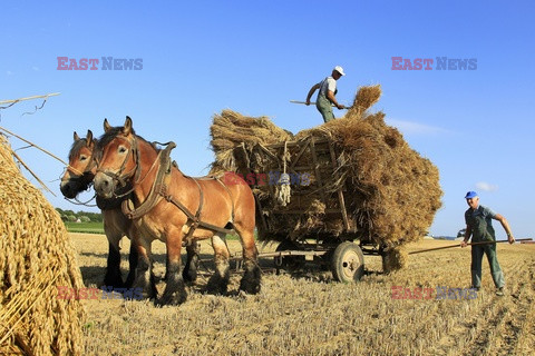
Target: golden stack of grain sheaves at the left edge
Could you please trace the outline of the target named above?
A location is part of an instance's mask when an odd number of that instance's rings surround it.
[[[81,300],[58,299],[57,288],[84,287],[72,244],[2,135],[0,202],[0,354],[81,354]]]

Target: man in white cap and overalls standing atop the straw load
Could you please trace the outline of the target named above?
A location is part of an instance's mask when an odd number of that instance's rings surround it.
[[[309,90],[309,95],[307,96],[307,105],[310,105],[310,98],[314,93],[315,90],[320,89],[318,93],[318,99],[315,100],[315,107],[318,111],[321,112],[323,117],[323,121],[329,122],[330,120],[334,119],[334,115],[332,113],[331,105],[334,105],[338,109],[343,109],[344,106],[338,103],[337,98],[334,97],[338,92],[337,90],[337,80],[340,79],[342,76],[346,76],[343,72],[342,67],[337,66],[332,70],[331,77],[327,77],[319,83],[312,86]]]

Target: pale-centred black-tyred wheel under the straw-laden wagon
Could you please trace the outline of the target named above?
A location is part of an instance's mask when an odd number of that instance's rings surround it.
[[[364,256],[359,245],[349,241],[338,245],[332,254],[331,270],[339,281],[360,280],[364,273]]]

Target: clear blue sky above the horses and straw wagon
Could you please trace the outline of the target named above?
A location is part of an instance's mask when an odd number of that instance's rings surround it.
[[[0,100],[61,95],[33,115],[22,116],[41,101],[0,110],[0,126],[67,159],[72,131],[99,136],[104,118],[119,126],[128,115],[146,139],[174,140],[181,169],[201,176],[213,160],[214,113],[265,115],[293,132],[317,126],[313,107],[289,100],[304,100],[340,65],[338,100],[351,103],[359,86],[380,83],[373,110],[438,167],[444,207],[431,234],[463,228],[463,197],[477,190],[516,237],[531,237],[534,9],[529,1],[2,1]],[[140,58],[143,69],[64,71],[57,57]],[[392,57],[475,58],[477,69],[392,70]],[[52,205],[80,209],[61,197],[60,162],[17,152],[56,192],[45,194]]]

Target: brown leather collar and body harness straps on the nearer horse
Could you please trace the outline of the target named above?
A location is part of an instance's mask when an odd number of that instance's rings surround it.
[[[193,214],[184,204],[182,204],[179,200],[177,200],[175,197],[173,197],[173,195],[168,192],[168,182],[171,180],[172,167],[174,166],[177,168],[176,162],[171,160],[171,150],[174,149],[175,147],[176,147],[176,144],[171,141],[167,144],[167,147],[165,149],[158,152],[158,157],[156,158],[155,164],[159,160],[159,168],[156,174],[156,179],[154,180],[153,186],[150,187],[150,191],[147,198],[145,199],[145,201],[143,201],[140,206],[135,208],[134,201],[132,200],[133,199],[132,196],[129,198],[124,199],[121,204],[123,214],[130,220],[139,219],[145,214],[150,211],[158,202],[160,202],[162,199],[165,199],[168,202],[172,202],[178,209],[181,209],[187,217],[186,225],[189,225],[189,229],[187,234],[184,236],[184,241],[186,243],[186,245],[192,244],[193,234],[200,227],[212,230],[212,231],[216,231],[216,233],[223,233],[225,235],[231,234],[233,231],[232,229],[222,228],[213,224],[208,224],[206,221],[201,220],[201,215],[202,215],[203,205],[204,205],[204,191],[201,185],[198,184],[200,178],[185,176],[186,178],[193,179],[193,181],[195,181],[198,188],[200,202],[198,202],[197,211],[195,214]],[[134,154],[136,157],[136,167],[138,167],[139,160],[138,160],[138,154],[137,154],[137,145],[135,145],[134,150],[136,151]],[[153,164],[153,167],[155,164]],[[125,164],[121,166],[121,169],[124,168],[124,166]],[[153,167],[150,168],[150,170],[153,169]],[[138,169],[138,171],[140,171],[140,169]],[[120,172],[121,170],[119,170],[118,175],[120,175]],[[119,182],[124,181],[124,177],[120,177],[123,179],[119,179],[118,175],[115,175],[117,176],[116,179]],[[139,174],[136,174],[136,180],[138,178],[139,178]],[[207,178],[201,178],[201,179],[210,179],[210,180],[215,179],[225,188],[226,192],[228,194],[228,197],[231,198],[231,202],[232,202],[231,219],[232,221],[234,221],[234,200],[232,198],[232,194],[228,187],[225,186],[221,181],[221,179],[217,177],[207,177]]]

